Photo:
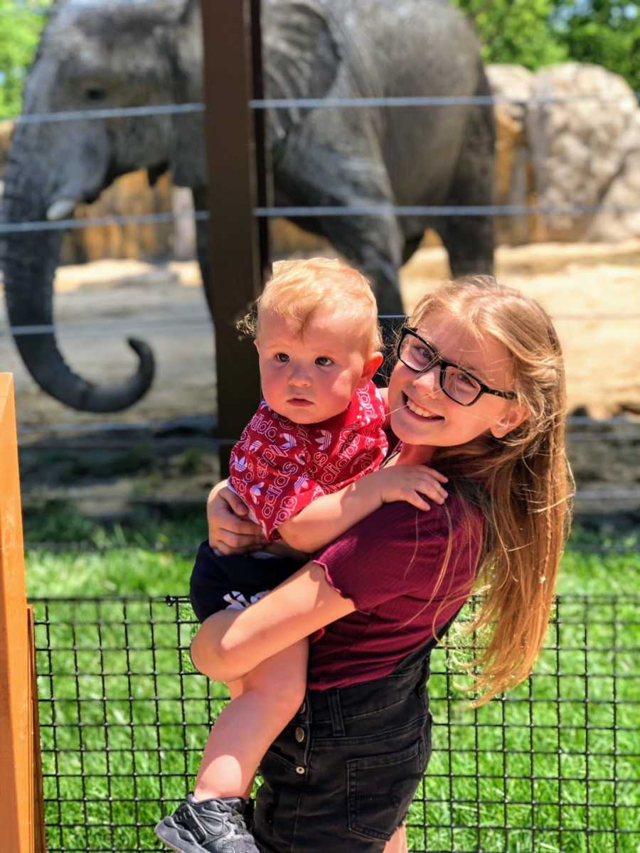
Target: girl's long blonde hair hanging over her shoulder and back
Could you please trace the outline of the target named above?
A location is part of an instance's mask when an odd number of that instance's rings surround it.
[[[532,669],[550,620],[567,537],[573,479],[565,454],[566,390],[561,346],[538,303],[491,276],[448,281],[416,305],[410,325],[444,311],[478,338],[491,335],[509,351],[516,404],[528,415],[504,438],[483,434],[439,448],[431,464],[448,488],[480,508],[485,537],[476,592],[479,612],[465,634],[480,639],[468,664],[483,705],[515,687]]]

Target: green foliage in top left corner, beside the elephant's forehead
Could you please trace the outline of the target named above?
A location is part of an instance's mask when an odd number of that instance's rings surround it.
[[[22,86],[51,0],[0,0],[0,119],[20,113]]]

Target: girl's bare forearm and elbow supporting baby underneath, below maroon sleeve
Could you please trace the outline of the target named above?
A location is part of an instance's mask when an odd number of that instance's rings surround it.
[[[245,610],[208,618],[195,635],[191,656],[198,670],[230,682],[259,663],[355,610],[329,586],[322,566],[306,563]]]

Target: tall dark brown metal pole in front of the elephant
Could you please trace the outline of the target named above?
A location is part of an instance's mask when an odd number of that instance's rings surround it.
[[[218,377],[218,438],[239,438],[256,409],[258,360],[236,321],[262,281],[253,114],[252,32],[247,0],[201,0],[209,191],[210,303]],[[220,467],[228,472],[228,446]]]

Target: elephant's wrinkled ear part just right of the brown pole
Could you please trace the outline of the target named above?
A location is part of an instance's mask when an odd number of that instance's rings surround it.
[[[271,0],[262,15],[265,96],[322,98],[335,82],[342,52],[321,3]],[[273,141],[304,119],[299,107],[274,109],[269,116]]]

